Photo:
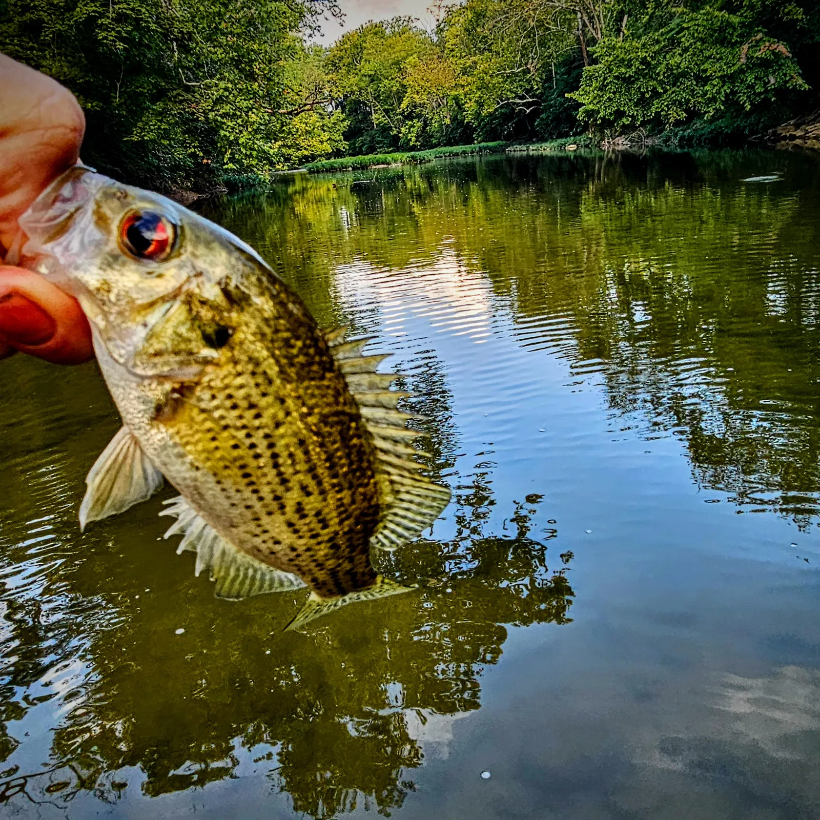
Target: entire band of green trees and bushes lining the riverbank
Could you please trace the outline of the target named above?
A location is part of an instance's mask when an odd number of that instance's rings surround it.
[[[465,153],[820,147],[816,0],[436,0],[430,14],[325,47],[341,0],[0,0],[0,51],[75,93],[86,162],[182,201]]]

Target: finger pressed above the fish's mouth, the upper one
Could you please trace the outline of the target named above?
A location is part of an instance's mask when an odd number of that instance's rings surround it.
[[[25,209],[77,161],[84,130],[68,89],[0,54],[0,257]]]

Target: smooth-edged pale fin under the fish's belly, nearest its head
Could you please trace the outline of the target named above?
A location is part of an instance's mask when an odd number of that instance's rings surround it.
[[[125,512],[147,501],[162,481],[162,472],[154,467],[131,431],[122,427],[85,479],[89,489],[80,505],[80,530],[89,521]]]

